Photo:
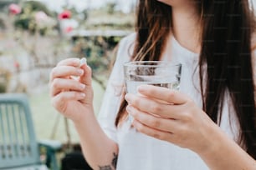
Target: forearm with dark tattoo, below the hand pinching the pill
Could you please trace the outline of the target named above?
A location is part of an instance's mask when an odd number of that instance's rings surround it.
[[[91,168],[115,169],[118,146],[105,135],[95,115],[88,115],[86,120],[79,123],[74,122],[74,126],[79,133],[84,157]]]

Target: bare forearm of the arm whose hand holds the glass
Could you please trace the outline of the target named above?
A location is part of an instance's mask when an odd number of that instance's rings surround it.
[[[228,138],[218,126],[214,126],[213,131],[209,133],[211,134],[209,147],[198,153],[211,170],[256,169],[256,161]]]

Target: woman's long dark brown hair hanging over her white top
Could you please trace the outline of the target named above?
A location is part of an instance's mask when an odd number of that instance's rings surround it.
[[[256,159],[256,109],[253,94],[252,38],[255,21],[248,0],[198,1],[202,15],[202,44],[199,73],[202,106],[218,123],[223,98],[229,92],[241,128],[240,145]],[[172,31],[172,7],[152,0],[140,0],[137,8],[136,42],[132,60],[159,60],[166,37]],[[202,66],[207,65],[203,72]],[[202,75],[206,75],[206,87]],[[122,101],[115,119],[125,116]],[[220,115],[219,115],[220,114]]]

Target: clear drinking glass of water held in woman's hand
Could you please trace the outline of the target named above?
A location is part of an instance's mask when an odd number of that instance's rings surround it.
[[[141,84],[166,87],[179,90],[182,64],[164,61],[125,62],[125,90],[127,93],[137,93]],[[128,115],[128,127],[131,127],[133,117]]]

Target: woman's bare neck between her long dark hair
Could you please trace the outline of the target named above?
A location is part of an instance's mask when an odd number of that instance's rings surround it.
[[[201,48],[199,14],[192,5],[172,7],[173,35],[182,47],[199,53]]]

